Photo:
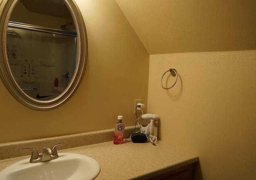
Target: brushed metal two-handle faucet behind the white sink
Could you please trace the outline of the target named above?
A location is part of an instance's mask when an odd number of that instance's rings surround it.
[[[35,149],[31,149],[31,148],[23,149],[23,151],[32,151],[32,155],[31,155],[29,162],[31,162],[31,163],[45,162],[48,160],[53,160],[53,159],[58,158],[59,156],[58,156],[56,147],[59,145],[63,145],[63,144],[64,143],[59,143],[59,144],[55,145],[54,147],[52,147],[52,149],[44,147],[44,152],[42,153],[42,155],[39,155]]]

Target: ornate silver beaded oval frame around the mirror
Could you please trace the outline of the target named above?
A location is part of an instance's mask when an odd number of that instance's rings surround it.
[[[9,92],[21,104],[34,110],[52,110],[67,102],[77,90],[86,67],[87,35],[82,14],[74,0],[63,0],[73,16],[77,31],[76,69],[68,87],[58,97],[40,101],[28,96],[17,84],[8,61],[6,38],[10,16],[18,0],[2,0],[0,2],[0,76]]]

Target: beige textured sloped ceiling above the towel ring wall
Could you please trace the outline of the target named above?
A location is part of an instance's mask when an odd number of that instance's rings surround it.
[[[256,0],[116,0],[149,54],[256,49]]]

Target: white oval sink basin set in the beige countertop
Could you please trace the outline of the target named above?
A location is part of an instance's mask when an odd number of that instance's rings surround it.
[[[0,180],[92,180],[100,165],[91,157],[59,153],[46,162],[30,163],[29,158],[16,162],[0,172]]]

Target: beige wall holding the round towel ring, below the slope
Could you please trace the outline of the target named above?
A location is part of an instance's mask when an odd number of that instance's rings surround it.
[[[150,55],[148,112],[162,141],[199,156],[196,180],[256,178],[255,72],[255,50]]]

